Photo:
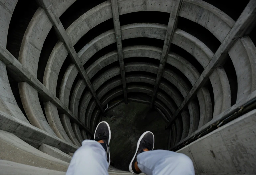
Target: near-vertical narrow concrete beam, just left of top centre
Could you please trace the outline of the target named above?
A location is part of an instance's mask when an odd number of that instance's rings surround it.
[[[120,30],[117,0],[111,0],[111,9],[112,9],[112,15],[113,15],[114,30],[115,30],[116,40],[117,40],[117,52],[118,52],[118,58],[119,58],[120,73],[122,77],[124,100],[125,100],[125,104],[127,104],[128,101],[127,101],[127,90],[126,90],[126,80],[125,80],[125,66],[124,66],[124,59],[123,59],[122,37],[121,37],[121,30]]]

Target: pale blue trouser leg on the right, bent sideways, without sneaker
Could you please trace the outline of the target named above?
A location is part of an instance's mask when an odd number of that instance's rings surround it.
[[[139,169],[146,175],[195,175],[193,162],[182,153],[145,151],[137,156],[137,162]]]

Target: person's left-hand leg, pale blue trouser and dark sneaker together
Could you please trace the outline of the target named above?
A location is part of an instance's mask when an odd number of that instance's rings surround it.
[[[100,122],[94,140],[84,140],[74,153],[66,175],[108,175],[110,138],[108,123]]]

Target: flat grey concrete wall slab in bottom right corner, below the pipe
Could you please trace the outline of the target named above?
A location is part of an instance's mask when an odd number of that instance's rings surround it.
[[[177,151],[188,155],[199,174],[255,174],[256,109]]]

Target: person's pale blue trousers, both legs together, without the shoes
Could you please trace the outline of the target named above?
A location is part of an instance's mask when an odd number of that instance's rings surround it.
[[[145,151],[137,156],[139,169],[146,175],[195,175],[191,159],[167,150]],[[84,140],[76,150],[66,175],[108,175],[107,155],[100,143]]]

